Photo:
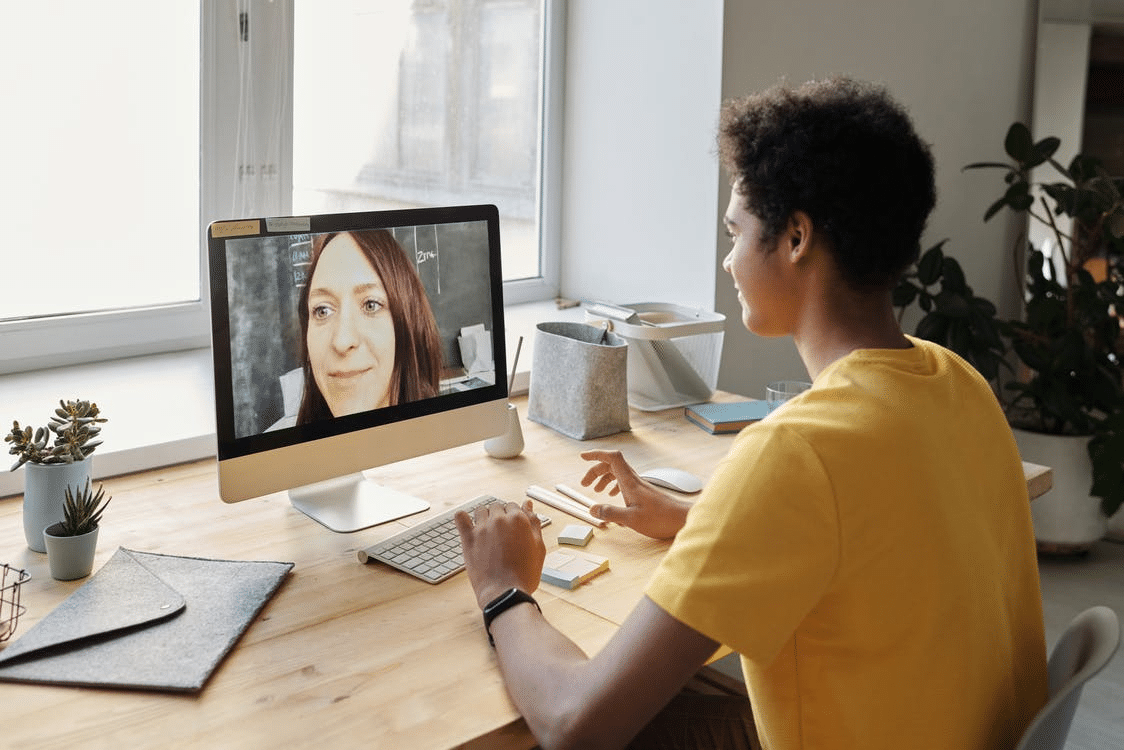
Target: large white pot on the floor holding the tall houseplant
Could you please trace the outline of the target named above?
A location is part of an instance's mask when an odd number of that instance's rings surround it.
[[[1105,535],[1108,525],[1100,512],[1100,498],[1089,495],[1089,439],[1013,432],[1024,461],[1053,470],[1053,489],[1031,501],[1039,550],[1051,554],[1087,552]]]

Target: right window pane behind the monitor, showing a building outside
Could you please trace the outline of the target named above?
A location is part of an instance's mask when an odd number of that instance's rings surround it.
[[[505,280],[540,278],[543,4],[297,3],[292,210],[493,202]]]

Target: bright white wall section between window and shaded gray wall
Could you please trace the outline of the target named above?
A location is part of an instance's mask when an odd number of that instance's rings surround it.
[[[713,309],[722,0],[570,0],[561,292]]]

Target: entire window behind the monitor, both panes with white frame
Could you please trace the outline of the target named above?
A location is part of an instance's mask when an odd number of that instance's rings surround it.
[[[561,2],[42,4],[0,10],[51,29],[0,49],[0,372],[206,345],[218,218],[495,202],[508,301],[556,290]]]

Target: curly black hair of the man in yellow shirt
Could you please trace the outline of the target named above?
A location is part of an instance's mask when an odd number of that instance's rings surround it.
[[[855,289],[890,288],[916,262],[936,204],[933,156],[886,89],[832,78],[727,101],[718,154],[762,242],[800,210]]]

